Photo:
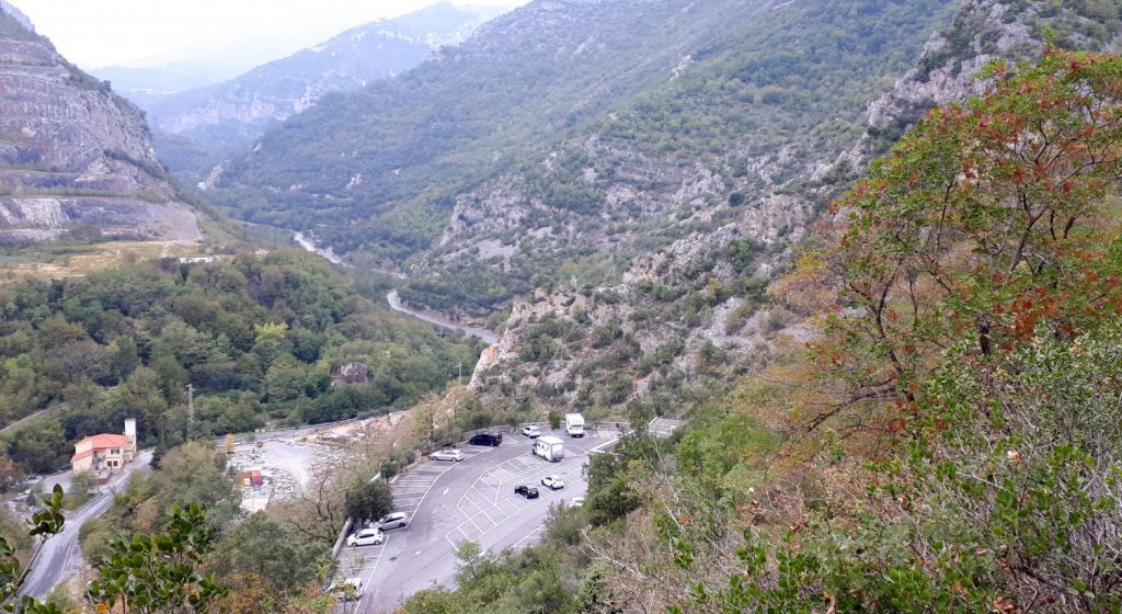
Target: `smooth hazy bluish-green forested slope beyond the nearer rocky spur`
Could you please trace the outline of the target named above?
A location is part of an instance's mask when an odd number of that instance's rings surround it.
[[[670,71],[763,1],[537,2],[401,79],[332,97],[226,167],[247,219],[337,250],[424,249],[452,196]],[[544,143],[543,143],[544,141]]]

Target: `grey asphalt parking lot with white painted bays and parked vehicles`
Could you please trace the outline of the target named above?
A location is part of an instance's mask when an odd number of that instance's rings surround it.
[[[505,433],[497,448],[462,445],[465,460],[425,459],[392,480],[396,508],[412,514],[410,525],[387,531],[381,546],[342,550],[339,577],[366,584],[362,599],[347,612],[393,612],[419,590],[452,588],[456,552],[466,541],[490,551],[536,543],[550,505],[585,494],[582,467],[589,450],[614,439],[614,433],[591,431],[578,439],[553,434],[565,445],[560,462],[531,455],[531,440]],[[564,476],[563,489],[541,485],[541,478],[552,474]],[[522,484],[537,486],[539,498],[515,495]]]

